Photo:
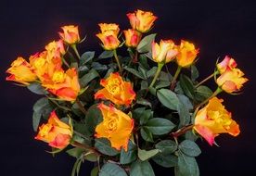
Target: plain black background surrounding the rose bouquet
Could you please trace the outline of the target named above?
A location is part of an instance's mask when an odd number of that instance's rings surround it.
[[[16,57],[29,57],[42,51],[45,44],[58,39],[59,27],[80,26],[87,35],[82,49],[101,51],[95,37],[99,22],[119,23],[129,28],[125,14],[135,9],[153,11],[159,19],[153,32],[157,39],[193,41],[200,48],[200,79],[211,74],[217,57],[230,55],[250,79],[244,94],[221,94],[224,105],[240,124],[237,138],[221,135],[221,147],[198,141],[201,175],[255,175],[255,81],[256,78],[256,8],[253,1],[1,1],[1,117],[0,175],[69,176],[74,159],[61,154],[51,157],[49,147],[35,141],[32,131],[32,105],[40,97],[28,90],[5,82],[5,70]],[[214,82],[210,82],[212,88]],[[91,164],[83,164],[81,175],[89,175]],[[156,175],[172,175],[173,170],[155,168]]]

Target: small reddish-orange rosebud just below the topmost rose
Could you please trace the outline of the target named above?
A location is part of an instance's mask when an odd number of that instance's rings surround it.
[[[139,44],[142,37],[141,32],[129,29],[123,31],[123,33],[125,36],[125,44],[128,47],[136,47]]]

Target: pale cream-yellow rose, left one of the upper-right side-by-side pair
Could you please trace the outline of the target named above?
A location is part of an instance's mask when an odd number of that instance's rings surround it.
[[[172,40],[160,40],[160,44],[152,43],[152,57],[155,62],[171,62],[177,53],[178,51]]]

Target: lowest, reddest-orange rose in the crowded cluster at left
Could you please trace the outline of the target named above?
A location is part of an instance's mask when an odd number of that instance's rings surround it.
[[[50,81],[42,82],[42,85],[50,93],[57,95],[62,100],[71,102],[76,100],[80,92],[76,69],[71,68],[66,72],[63,69],[56,70]]]

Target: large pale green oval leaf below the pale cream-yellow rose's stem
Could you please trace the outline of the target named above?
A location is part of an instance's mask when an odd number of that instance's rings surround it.
[[[180,100],[173,91],[169,89],[160,89],[157,92],[160,103],[164,107],[168,107],[172,110],[177,110],[178,105],[180,104]]]

